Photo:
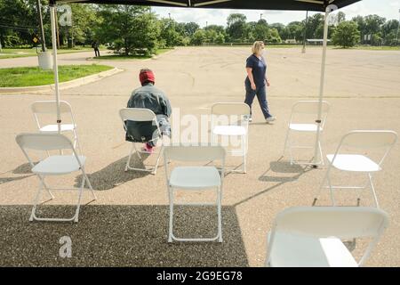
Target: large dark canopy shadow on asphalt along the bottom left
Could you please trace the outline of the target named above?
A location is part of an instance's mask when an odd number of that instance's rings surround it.
[[[69,206],[46,206],[38,215],[73,215]],[[168,206],[88,205],[79,222],[28,222],[31,207],[0,206],[0,266],[248,266],[236,209],[222,207],[223,242],[167,242]],[[210,237],[215,207],[177,207],[174,233]],[[190,223],[193,221],[193,223]],[[59,256],[61,237],[72,241],[72,256]],[[32,246],[35,245],[35,246]],[[24,250],[20,250],[24,248]]]

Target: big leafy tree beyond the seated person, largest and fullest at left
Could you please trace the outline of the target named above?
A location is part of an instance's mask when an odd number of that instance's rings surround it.
[[[96,37],[115,50],[130,53],[156,52],[160,24],[148,7],[130,5],[101,5],[101,17]]]

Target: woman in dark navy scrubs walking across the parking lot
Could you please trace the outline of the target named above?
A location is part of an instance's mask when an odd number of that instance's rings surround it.
[[[257,95],[260,103],[262,114],[264,115],[267,123],[276,120],[274,116],[269,113],[267,102],[267,87],[269,80],[267,78],[267,62],[263,56],[264,43],[257,41],[252,45],[252,55],[247,58],[246,71],[247,77],[244,81],[246,96],[244,102],[250,107],[250,118],[252,121],[252,102]]]

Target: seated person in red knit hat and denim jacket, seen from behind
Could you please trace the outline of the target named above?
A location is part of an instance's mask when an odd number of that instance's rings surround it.
[[[139,80],[141,87],[132,92],[127,108],[144,108],[152,110],[156,114],[160,131],[163,135],[171,137],[171,125],[169,118],[172,114],[171,103],[163,91],[156,88],[155,76],[150,69],[140,69]],[[144,143],[142,151],[151,153],[157,143],[157,137],[153,137],[156,126],[152,122],[126,122],[125,140],[138,142],[140,138]]]

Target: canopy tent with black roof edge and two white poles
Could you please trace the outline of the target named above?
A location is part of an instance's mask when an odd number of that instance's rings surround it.
[[[328,39],[328,17],[333,10],[349,4],[356,3],[360,0],[51,0],[50,13],[52,25],[52,56],[53,56],[53,71],[55,97],[57,102],[57,124],[60,132],[60,89],[59,89],[59,74],[57,64],[57,45],[56,45],[56,4],[62,3],[82,3],[82,4],[131,4],[131,5],[148,5],[148,6],[164,6],[164,7],[188,7],[188,8],[220,8],[220,9],[256,9],[256,10],[302,10],[325,12],[324,16],[324,42],[323,54],[321,61],[321,77],[319,87],[319,108],[317,111],[317,131],[316,145],[314,152],[314,166],[317,167],[319,159],[318,141],[320,136],[320,124],[322,115],[322,104],[324,100],[324,82],[325,82],[325,62],[326,62],[326,47]]]

